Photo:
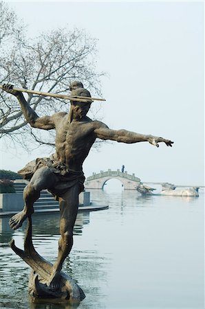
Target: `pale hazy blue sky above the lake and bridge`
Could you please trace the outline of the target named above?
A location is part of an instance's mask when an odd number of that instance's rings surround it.
[[[85,176],[124,164],[142,181],[204,183],[204,2],[7,2],[30,35],[76,26],[98,38],[97,66],[109,74],[102,79],[105,124],[175,142],[105,144],[90,152]],[[49,155],[45,148],[29,155],[1,148],[5,170]]]

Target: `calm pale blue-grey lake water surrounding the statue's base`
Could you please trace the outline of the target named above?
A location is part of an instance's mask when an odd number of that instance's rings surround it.
[[[109,209],[78,214],[63,271],[83,288],[78,306],[31,302],[30,267],[13,253],[17,231],[0,218],[0,308],[204,308],[204,194],[199,198],[91,191]],[[33,216],[36,251],[54,262],[59,215]]]

